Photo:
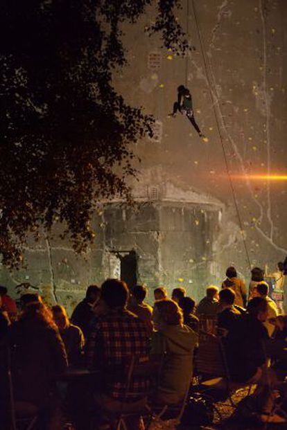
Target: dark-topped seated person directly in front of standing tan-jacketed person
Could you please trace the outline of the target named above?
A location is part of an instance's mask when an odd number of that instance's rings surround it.
[[[235,293],[233,289],[225,287],[220,290],[219,293],[219,305],[220,312],[217,315],[217,325],[218,328],[224,328],[229,331],[240,316],[241,312],[239,312],[236,307],[234,307],[235,301]]]

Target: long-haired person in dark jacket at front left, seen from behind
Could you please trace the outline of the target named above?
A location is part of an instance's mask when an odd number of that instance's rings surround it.
[[[9,328],[8,342],[15,400],[35,404],[44,413],[41,429],[62,428],[54,377],[67,369],[68,362],[48,307],[40,300],[26,305],[19,321]]]

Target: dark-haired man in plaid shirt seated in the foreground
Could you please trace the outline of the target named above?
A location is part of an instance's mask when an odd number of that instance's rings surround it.
[[[128,295],[128,287],[121,280],[108,279],[103,283],[101,301],[107,312],[98,318],[87,344],[88,367],[109,375],[98,394],[98,404],[105,410],[115,411],[127,406],[126,403],[131,407],[143,399],[149,387],[146,377],[134,377],[130,382],[130,395],[124,398],[126,376],[123,369],[132,357],[148,361],[150,348],[146,325],[126,308]],[[126,422],[129,430],[143,429],[139,416],[131,416]]]

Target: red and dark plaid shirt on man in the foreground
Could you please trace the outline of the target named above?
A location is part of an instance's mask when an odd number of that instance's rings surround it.
[[[113,310],[96,321],[87,344],[87,365],[109,375],[105,391],[123,400],[126,385],[124,369],[132,356],[148,360],[150,343],[146,325],[128,310]],[[113,375],[114,374],[114,375]],[[120,376],[121,375],[121,376]],[[145,377],[132,378],[128,399],[136,400],[147,392]]]

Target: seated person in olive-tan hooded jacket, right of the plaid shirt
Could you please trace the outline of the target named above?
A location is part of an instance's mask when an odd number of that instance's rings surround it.
[[[183,323],[180,307],[171,300],[155,303],[158,331],[152,338],[151,357],[162,359],[162,372],[157,392],[159,404],[177,404],[191,384],[193,350],[198,335]]]

